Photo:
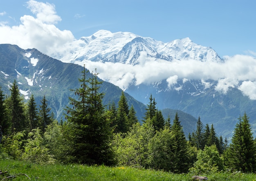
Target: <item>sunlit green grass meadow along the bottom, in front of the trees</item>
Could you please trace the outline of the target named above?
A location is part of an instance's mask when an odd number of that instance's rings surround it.
[[[0,170],[16,175],[15,181],[189,181],[191,174],[173,174],[130,167],[85,165],[38,165],[26,161],[1,160]],[[29,177],[27,177],[26,175]],[[208,181],[256,181],[256,174],[216,173],[203,175]],[[3,177],[0,176],[0,180]]]

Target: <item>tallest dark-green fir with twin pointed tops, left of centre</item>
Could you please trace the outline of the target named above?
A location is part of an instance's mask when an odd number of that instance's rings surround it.
[[[81,86],[72,90],[78,99],[70,97],[72,107],[66,108],[73,143],[71,155],[79,163],[111,165],[114,163],[110,144],[113,133],[102,104],[104,94],[99,93],[102,82],[97,78],[96,69],[89,79],[87,72],[84,66],[82,78],[79,79]]]

